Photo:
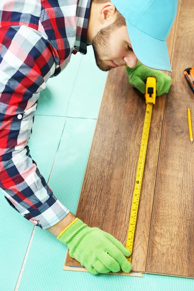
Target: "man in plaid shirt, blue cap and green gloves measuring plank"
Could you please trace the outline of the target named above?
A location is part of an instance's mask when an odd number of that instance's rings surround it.
[[[171,71],[166,37],[177,0],[1,0],[0,188],[9,204],[35,226],[48,229],[89,272],[130,272],[130,252],[112,235],[88,227],[53,195],[32,160],[28,140],[40,91],[71,54],[92,45],[97,66],[127,65],[142,93],[148,76],[158,95]],[[138,61],[139,60],[139,61]],[[140,63],[141,62],[141,63]],[[144,65],[146,66],[144,66]]]

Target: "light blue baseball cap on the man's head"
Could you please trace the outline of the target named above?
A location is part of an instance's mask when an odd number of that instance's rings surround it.
[[[148,67],[172,72],[166,38],[176,17],[178,0],[111,0],[125,17],[132,49]]]

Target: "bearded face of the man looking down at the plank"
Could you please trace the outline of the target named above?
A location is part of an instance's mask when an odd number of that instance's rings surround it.
[[[131,48],[127,26],[115,28],[114,23],[97,32],[92,41],[97,66],[102,71],[128,65],[135,67],[137,58]]]

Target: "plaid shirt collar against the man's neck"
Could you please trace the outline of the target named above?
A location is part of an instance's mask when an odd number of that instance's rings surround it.
[[[80,51],[82,54],[87,53],[87,30],[90,14],[91,0],[78,0],[76,10],[76,41],[75,50]]]

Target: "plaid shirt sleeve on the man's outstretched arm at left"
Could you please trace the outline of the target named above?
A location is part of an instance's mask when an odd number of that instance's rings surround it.
[[[0,28],[0,188],[10,205],[43,229],[69,213],[27,145],[40,91],[55,66],[52,47],[39,32],[27,26]]]

